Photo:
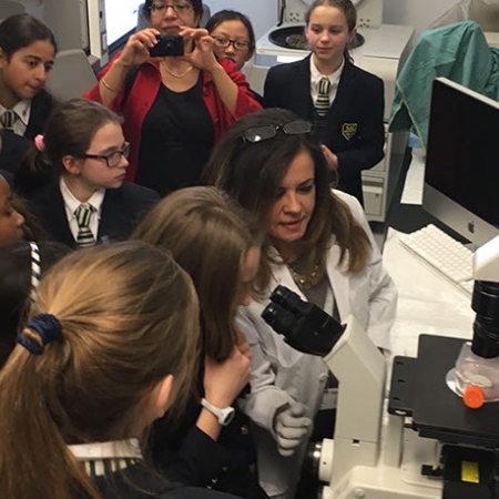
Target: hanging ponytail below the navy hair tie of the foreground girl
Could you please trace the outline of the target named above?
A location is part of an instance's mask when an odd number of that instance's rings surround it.
[[[23,334],[33,335],[30,329]],[[38,360],[19,345],[0,371],[0,496],[101,499],[49,409],[49,401],[58,399],[50,386],[62,373],[63,356],[43,358],[49,369],[40,369]]]

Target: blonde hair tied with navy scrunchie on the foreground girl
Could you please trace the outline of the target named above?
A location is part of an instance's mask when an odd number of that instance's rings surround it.
[[[18,345],[0,373],[0,497],[99,498],[68,444],[144,434],[145,407],[173,375],[182,407],[197,369],[197,301],[165,252],[129,242],[73,253],[42,278],[31,317],[59,340]]]

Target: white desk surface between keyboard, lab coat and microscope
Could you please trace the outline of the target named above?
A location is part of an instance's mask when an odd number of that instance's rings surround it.
[[[393,355],[416,356],[421,333],[471,339],[471,298],[407,251],[399,235],[388,230],[383,253],[399,294],[391,329]]]

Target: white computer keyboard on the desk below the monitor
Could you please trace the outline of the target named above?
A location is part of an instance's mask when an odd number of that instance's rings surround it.
[[[473,291],[471,249],[432,224],[411,234],[401,235],[400,243],[460,291],[471,296]]]

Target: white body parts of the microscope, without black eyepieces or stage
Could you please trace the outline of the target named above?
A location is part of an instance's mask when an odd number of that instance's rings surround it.
[[[499,236],[477,249],[473,267],[476,281],[499,283]],[[384,356],[352,316],[324,361],[339,390],[335,438],[322,445],[323,499],[441,498],[441,478],[421,475],[421,465],[438,468],[441,444],[385,410]]]

